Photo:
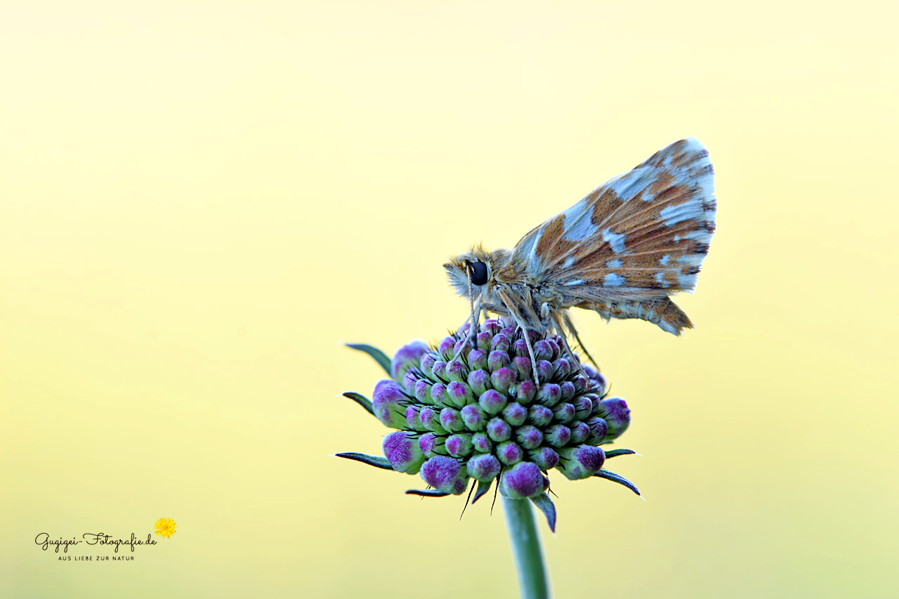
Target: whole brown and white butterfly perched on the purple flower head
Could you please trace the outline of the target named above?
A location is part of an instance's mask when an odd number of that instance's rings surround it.
[[[595,365],[568,308],[606,321],[639,318],[673,335],[692,328],[669,296],[693,292],[715,213],[708,150],[699,139],[681,139],[531,229],[512,250],[474,246],[443,267],[470,301],[472,334],[481,312],[494,312],[525,331],[555,329],[572,357],[567,337],[574,336]],[[529,336],[522,335],[536,374]]]

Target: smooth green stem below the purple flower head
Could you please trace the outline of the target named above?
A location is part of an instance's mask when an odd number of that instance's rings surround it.
[[[543,551],[540,549],[540,539],[534,525],[530,500],[503,497],[503,508],[506,526],[509,527],[509,539],[512,541],[515,566],[518,568],[521,599],[547,599],[549,597],[547,567],[543,562]]]

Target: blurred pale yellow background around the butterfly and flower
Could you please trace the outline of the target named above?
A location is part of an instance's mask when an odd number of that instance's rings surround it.
[[[694,135],[681,338],[574,314],[634,423],[554,475],[559,597],[895,596],[895,3],[18,3],[0,10],[0,592],[513,597],[502,510],[330,457],[347,399],[512,246]],[[174,537],[58,562],[39,532]],[[79,546],[77,554],[91,554]]]

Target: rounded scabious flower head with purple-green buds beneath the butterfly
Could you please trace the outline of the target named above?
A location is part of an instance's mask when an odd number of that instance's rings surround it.
[[[414,341],[392,360],[369,345],[351,347],[372,355],[391,378],[375,384],[370,402],[344,395],[398,430],[384,437],[384,458],[338,455],[419,474],[431,487],[410,493],[461,495],[477,484],[477,498],[495,481],[503,496],[531,499],[546,514],[553,469],[571,480],[608,478],[636,492],[602,468],[607,457],[633,451],[607,454],[600,447],[627,430],[628,404],[606,398],[605,378],[574,361],[557,335],[489,319],[471,335],[466,325],[431,347]]]

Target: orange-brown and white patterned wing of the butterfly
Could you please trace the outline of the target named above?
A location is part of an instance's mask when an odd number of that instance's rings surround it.
[[[708,151],[699,139],[681,139],[531,230],[512,258],[538,284],[584,298],[692,292],[715,212]]]

